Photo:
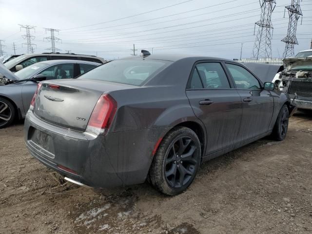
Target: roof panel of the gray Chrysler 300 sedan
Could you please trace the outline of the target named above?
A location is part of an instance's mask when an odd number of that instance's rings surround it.
[[[157,55],[149,55],[145,57],[131,56],[131,57],[126,57],[122,59],[155,59],[155,60],[167,60],[167,61],[178,61],[180,59],[190,59],[190,61],[222,60],[222,61],[233,62],[233,60],[230,60],[230,59],[221,59],[221,58],[215,58],[215,57],[205,57],[205,56],[196,56],[196,55],[179,55],[179,54],[157,54]]]

